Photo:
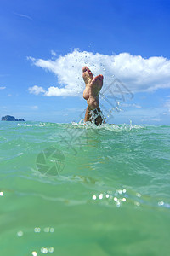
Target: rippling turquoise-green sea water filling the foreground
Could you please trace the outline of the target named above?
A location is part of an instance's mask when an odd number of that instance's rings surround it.
[[[169,255],[170,126],[0,122],[0,255]]]

